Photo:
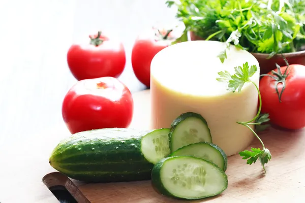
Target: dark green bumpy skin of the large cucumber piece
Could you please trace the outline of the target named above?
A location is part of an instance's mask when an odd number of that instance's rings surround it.
[[[154,164],[147,161],[140,150],[141,138],[148,132],[130,128],[78,132],[54,148],[49,163],[78,181],[150,180]]]

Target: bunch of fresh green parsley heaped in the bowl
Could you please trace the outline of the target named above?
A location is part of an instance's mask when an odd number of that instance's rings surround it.
[[[254,53],[295,52],[305,45],[303,0],[179,0],[176,18],[204,40],[214,40]],[[222,62],[226,50],[219,55]]]

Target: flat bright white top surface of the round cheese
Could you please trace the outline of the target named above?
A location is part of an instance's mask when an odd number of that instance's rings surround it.
[[[233,45],[227,50],[227,58],[222,63],[218,55],[225,47],[225,43],[217,41],[188,41],[171,45],[151,61],[151,79],[180,94],[220,96],[229,93],[227,83],[216,80],[220,71],[234,74],[234,67],[248,62],[257,66],[252,78],[259,77],[257,59]],[[246,83],[243,89],[249,85]]]

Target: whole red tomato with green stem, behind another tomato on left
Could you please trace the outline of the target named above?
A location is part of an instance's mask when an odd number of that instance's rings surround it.
[[[126,54],[122,43],[105,35],[89,36],[90,43],[74,44],[67,53],[72,75],[77,80],[119,77],[125,69]]]

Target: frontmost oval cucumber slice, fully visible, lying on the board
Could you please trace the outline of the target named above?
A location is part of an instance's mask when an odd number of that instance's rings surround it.
[[[184,199],[201,199],[222,193],[228,177],[218,166],[193,156],[172,156],[159,161],[151,181],[160,193]]]

